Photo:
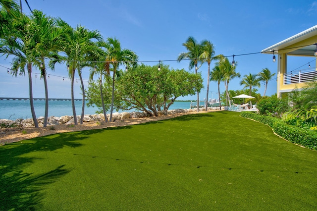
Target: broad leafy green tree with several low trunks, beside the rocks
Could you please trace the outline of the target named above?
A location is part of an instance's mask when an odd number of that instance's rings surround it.
[[[189,73],[184,69],[169,70],[168,65],[138,65],[124,73],[119,79],[119,93],[123,101],[121,109],[137,108],[148,115],[158,116],[161,107],[167,114],[168,107],[180,96],[194,95],[202,89],[200,74]]]

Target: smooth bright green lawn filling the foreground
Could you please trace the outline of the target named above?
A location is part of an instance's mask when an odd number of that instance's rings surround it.
[[[237,112],[0,147],[0,210],[317,210],[317,152]]]

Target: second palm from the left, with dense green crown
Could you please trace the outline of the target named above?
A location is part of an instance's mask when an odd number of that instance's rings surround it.
[[[45,114],[43,127],[46,127],[49,113],[49,94],[45,60],[56,58],[57,52],[60,50],[58,40],[64,32],[61,28],[55,27],[54,18],[45,15],[42,11],[33,10],[30,19],[28,30],[32,34],[30,42],[34,46],[29,51],[34,57],[33,65],[40,69],[41,78],[44,80]]]

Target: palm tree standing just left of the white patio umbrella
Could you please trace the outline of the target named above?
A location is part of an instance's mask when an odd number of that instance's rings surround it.
[[[233,66],[227,57],[221,57],[219,64],[220,64],[221,71],[223,73],[224,86],[226,88],[226,105],[228,106],[228,102],[229,102],[229,106],[231,106],[228,87],[229,87],[229,81],[231,79],[234,79],[236,77],[238,78],[241,77],[240,73],[236,72],[238,62],[236,62],[235,65]]]

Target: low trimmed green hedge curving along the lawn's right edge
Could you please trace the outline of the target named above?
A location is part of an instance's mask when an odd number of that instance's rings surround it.
[[[243,111],[240,113],[240,116],[268,125],[277,135],[289,142],[317,150],[317,133],[314,131],[288,125],[276,117],[263,116],[254,112]]]

